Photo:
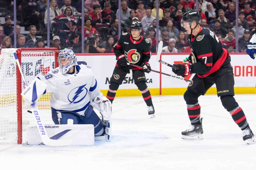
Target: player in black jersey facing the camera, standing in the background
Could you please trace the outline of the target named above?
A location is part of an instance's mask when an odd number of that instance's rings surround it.
[[[150,117],[155,117],[155,109],[148,86],[146,85],[145,77],[145,72],[149,73],[151,70],[148,63],[151,56],[150,42],[147,38],[143,38],[140,35],[142,30],[141,22],[132,22],[130,28],[131,34],[123,33],[114,46],[114,53],[116,55],[117,62],[113,75],[110,78],[107,98],[111,103],[113,102],[116,96],[116,90],[119,85],[122,84],[126,74],[130,73],[131,69],[134,82],[148,106],[148,115],[150,115]],[[143,69],[127,65],[127,62],[143,66]]]

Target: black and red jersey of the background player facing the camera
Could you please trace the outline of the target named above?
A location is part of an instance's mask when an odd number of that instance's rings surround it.
[[[150,41],[147,38],[143,38],[141,35],[140,39],[136,41],[132,39],[131,34],[123,33],[114,45],[114,53],[116,60],[120,55],[125,55],[127,63],[141,66],[143,62],[148,62],[150,59]],[[128,65],[125,69],[137,70],[138,68]]]

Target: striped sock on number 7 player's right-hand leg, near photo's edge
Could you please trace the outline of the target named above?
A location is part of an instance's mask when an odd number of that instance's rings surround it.
[[[235,123],[239,126],[241,130],[244,130],[246,128],[249,128],[249,124],[246,120],[246,117],[244,115],[244,111],[241,107],[236,107],[235,109],[229,111],[230,115],[232,116]]]

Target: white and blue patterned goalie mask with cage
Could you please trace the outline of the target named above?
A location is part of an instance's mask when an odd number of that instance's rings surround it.
[[[76,55],[72,49],[65,48],[63,49],[58,56],[58,63],[60,66],[60,72],[62,74],[67,73],[71,67],[77,65],[76,63]],[[65,63],[65,66],[62,64]]]

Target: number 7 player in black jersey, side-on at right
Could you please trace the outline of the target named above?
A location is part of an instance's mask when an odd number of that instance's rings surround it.
[[[181,26],[190,34],[191,54],[184,64],[173,64],[172,71],[178,76],[196,75],[184,93],[187,103],[188,117],[191,126],[183,131],[183,139],[203,139],[202,119],[200,120],[200,105],[198,97],[204,95],[215,84],[217,95],[223,107],[230,113],[233,120],[243,132],[243,140],[247,144],[255,143],[255,138],[244,112],[234,99],[234,74],[230,64],[230,56],[222,48],[219,39],[207,28],[200,27],[200,13],[190,10],[184,13]]]

